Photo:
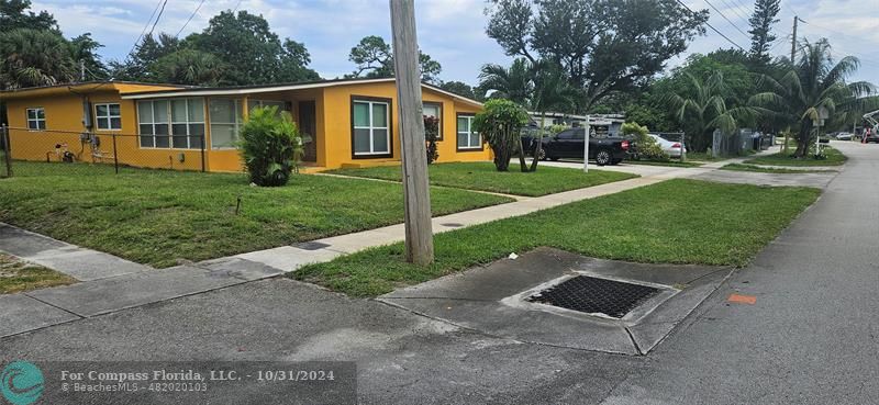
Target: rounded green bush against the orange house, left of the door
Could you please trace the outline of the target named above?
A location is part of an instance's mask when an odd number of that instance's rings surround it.
[[[290,113],[275,105],[256,108],[241,128],[238,148],[251,182],[283,185],[299,168],[302,137]]]

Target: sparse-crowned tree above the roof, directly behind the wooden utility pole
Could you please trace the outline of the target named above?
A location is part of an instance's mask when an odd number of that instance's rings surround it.
[[[348,60],[357,65],[351,77],[393,77],[393,52],[390,44],[380,36],[363,37],[351,48]],[[427,82],[436,81],[443,71],[443,66],[438,61],[421,50],[419,50],[419,67],[422,80]]]

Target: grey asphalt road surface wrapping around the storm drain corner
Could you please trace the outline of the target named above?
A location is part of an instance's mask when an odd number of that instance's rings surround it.
[[[351,360],[364,404],[876,404],[879,145],[838,147],[850,160],[817,203],[648,356],[524,344],[270,279],[4,338],[0,361]]]

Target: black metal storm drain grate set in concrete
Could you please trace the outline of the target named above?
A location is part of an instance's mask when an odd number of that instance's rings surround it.
[[[600,313],[619,319],[658,293],[659,289],[652,286],[577,275],[525,301],[589,314]]]

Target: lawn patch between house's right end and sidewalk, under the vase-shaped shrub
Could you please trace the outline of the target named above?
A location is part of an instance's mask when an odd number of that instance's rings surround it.
[[[431,184],[457,189],[481,190],[516,195],[545,195],[567,190],[610,183],[637,177],[615,171],[589,170],[538,166],[535,172],[521,172],[519,162],[510,171],[494,170],[490,162],[435,164],[429,166]],[[330,173],[400,181],[399,166],[364,169],[338,169]]]

